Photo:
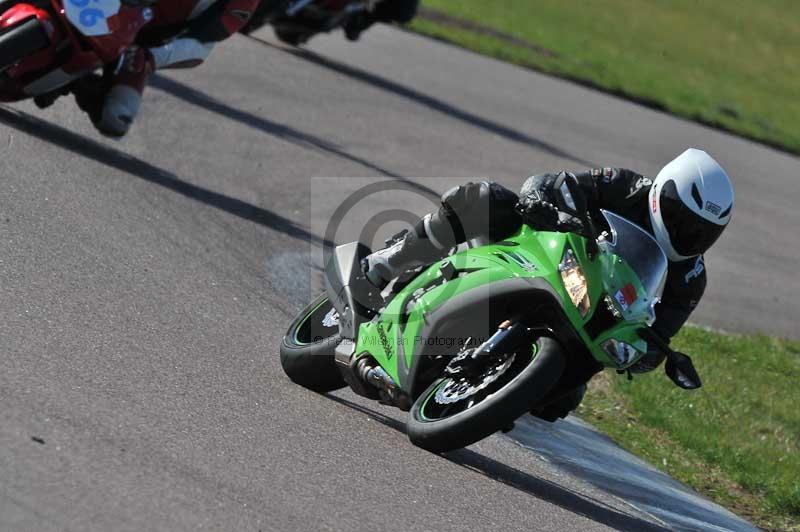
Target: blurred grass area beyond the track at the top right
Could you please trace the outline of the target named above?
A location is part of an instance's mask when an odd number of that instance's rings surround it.
[[[796,12],[796,0],[423,0],[411,29],[800,153]]]

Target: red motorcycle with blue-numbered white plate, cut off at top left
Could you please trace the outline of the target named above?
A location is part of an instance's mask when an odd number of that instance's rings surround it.
[[[153,19],[152,1],[0,0],[0,101],[40,107],[119,61]]]

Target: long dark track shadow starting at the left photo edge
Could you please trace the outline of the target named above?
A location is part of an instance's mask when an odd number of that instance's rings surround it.
[[[125,172],[149,183],[162,186],[187,198],[205,203],[249,222],[279,231],[292,238],[316,245],[332,245],[296,225],[292,220],[270,210],[193,185],[181,180],[175,174],[162,170],[146,161],[22,111],[0,106],[0,123],[44,142],[97,161],[100,164],[110,166],[120,172]]]

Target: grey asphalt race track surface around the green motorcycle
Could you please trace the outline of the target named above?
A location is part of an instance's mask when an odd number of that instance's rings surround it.
[[[466,178],[699,145],[738,203],[694,321],[800,338],[800,160],[397,30],[262,37],[156,78],[124,142],[66,99],[0,107],[0,529],[663,530],[505,437],[414,448],[401,413],[291,385],[281,336],[364,184],[398,185],[336,241]]]

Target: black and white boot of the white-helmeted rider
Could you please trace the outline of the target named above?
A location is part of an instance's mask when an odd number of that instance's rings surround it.
[[[364,258],[364,272],[373,285],[383,289],[392,279],[405,272],[447,255],[450,248],[442,245],[432,234],[430,218],[430,215],[426,216],[401,240]]]

